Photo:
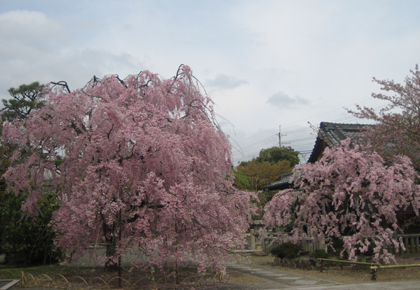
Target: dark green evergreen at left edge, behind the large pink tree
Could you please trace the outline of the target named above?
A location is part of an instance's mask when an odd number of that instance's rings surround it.
[[[40,109],[43,85],[33,82],[10,88],[11,99],[3,100],[1,110],[0,132],[3,122],[24,120],[33,110]],[[10,166],[9,158],[15,146],[1,144],[0,146],[0,253],[8,253],[9,262],[28,264],[46,264],[55,262],[60,257],[60,251],[54,247],[55,233],[50,228],[53,212],[58,208],[57,196],[45,192],[38,202],[36,216],[30,216],[22,210],[27,194],[25,192],[7,192],[7,185],[2,178]],[[22,157],[28,152],[21,152]]]

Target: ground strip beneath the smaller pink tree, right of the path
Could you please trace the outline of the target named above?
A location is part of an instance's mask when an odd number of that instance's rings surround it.
[[[251,262],[258,265],[273,267],[279,270],[303,274],[306,276],[316,277],[320,279],[336,281],[346,284],[363,283],[371,281],[371,273],[369,266],[366,267],[326,267],[321,273],[319,270],[303,270],[293,268],[283,268],[274,266],[274,257],[272,256],[251,256]],[[405,255],[397,257],[399,265],[420,264],[420,254]],[[381,282],[402,281],[402,280],[419,280],[420,267],[416,268],[398,268],[398,269],[379,269],[377,272],[377,280]]]

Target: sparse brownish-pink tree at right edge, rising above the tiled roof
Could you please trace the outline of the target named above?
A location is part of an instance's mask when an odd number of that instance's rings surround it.
[[[374,149],[385,158],[392,160],[395,155],[408,156],[413,166],[420,171],[420,71],[418,65],[407,76],[404,84],[390,80],[373,79],[381,85],[385,93],[372,94],[372,97],[388,102],[380,111],[357,106],[349,110],[358,118],[376,122],[367,128]],[[389,95],[391,94],[391,95]]]

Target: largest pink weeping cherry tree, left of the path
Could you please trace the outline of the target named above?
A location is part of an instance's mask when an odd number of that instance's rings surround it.
[[[36,148],[23,162],[16,150],[5,178],[10,191],[28,192],[29,212],[45,186],[57,192],[52,224],[67,253],[104,236],[107,264],[131,249],[143,257],[137,266],[193,259],[204,271],[223,269],[244,245],[250,194],[227,178],[228,138],[188,66],[167,80],[143,71],[72,92],[51,84],[43,100],[4,126],[3,142]]]

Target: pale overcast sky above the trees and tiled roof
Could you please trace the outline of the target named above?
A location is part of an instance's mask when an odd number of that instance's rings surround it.
[[[378,79],[420,63],[420,1],[0,0],[0,98],[23,83],[189,65],[215,102],[235,164],[282,143],[310,152],[308,122],[363,123]],[[308,158],[308,155],[306,155]]]

